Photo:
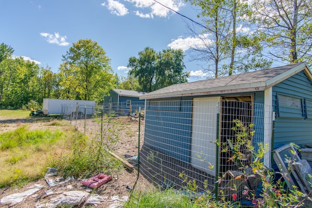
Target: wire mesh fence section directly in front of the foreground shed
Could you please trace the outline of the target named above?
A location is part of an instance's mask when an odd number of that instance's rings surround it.
[[[271,115],[263,104],[235,100],[147,101],[140,173],[163,189],[245,200],[245,186],[257,189],[260,180],[235,180],[253,161],[237,131],[245,131],[257,151],[270,137]]]

